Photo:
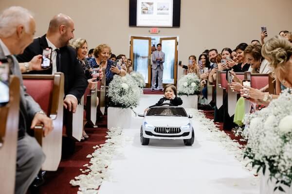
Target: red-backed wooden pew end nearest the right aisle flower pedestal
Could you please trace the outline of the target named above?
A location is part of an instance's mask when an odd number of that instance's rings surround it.
[[[226,93],[227,80],[226,71],[216,72],[216,107],[219,109],[223,105],[223,96]]]

